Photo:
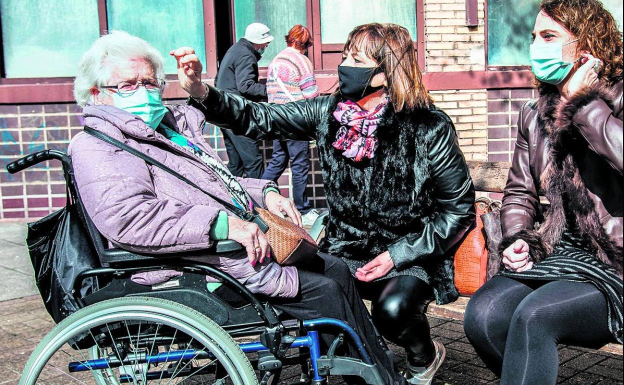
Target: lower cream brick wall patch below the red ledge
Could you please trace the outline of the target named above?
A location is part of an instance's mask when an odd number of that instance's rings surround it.
[[[455,124],[459,145],[467,160],[487,158],[487,91],[432,91],[437,107]]]

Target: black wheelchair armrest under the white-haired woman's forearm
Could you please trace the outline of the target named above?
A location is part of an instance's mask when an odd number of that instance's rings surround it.
[[[189,256],[206,256],[231,251],[243,250],[243,246],[233,240],[216,241],[212,247],[205,250],[183,251],[180,253],[139,253],[120,248],[109,248],[102,251],[100,262],[117,265],[125,262],[157,261],[163,258],[183,258]]]

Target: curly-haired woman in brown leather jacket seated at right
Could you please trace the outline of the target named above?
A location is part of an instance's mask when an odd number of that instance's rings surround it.
[[[504,269],[464,317],[504,385],[555,384],[559,343],[622,343],[622,33],[598,0],[542,0],[533,36],[539,98],[520,110]]]

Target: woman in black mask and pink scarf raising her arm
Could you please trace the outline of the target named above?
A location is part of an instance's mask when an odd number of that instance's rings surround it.
[[[432,104],[404,27],[349,34],[333,95],[257,104],[204,85],[192,49],[172,52],[208,122],[253,139],[316,140],[329,207],[321,251],[340,256],[373,301],[381,334],[427,384],[444,359],[425,315],[456,300],[452,248],[475,219],[474,187],[451,119]]]

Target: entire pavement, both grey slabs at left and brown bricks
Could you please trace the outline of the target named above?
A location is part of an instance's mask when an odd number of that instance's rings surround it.
[[[0,222],[0,384],[17,384],[32,350],[54,326],[32,279],[32,267],[23,246],[26,223]],[[431,334],[447,349],[446,361],[434,385],[497,384],[498,381],[468,343],[461,321],[429,316]],[[405,354],[391,346],[397,366]],[[622,356],[590,349],[559,349],[560,384],[622,385]],[[285,371],[282,384],[298,378],[296,368]],[[329,384],[343,384],[339,377]]]

